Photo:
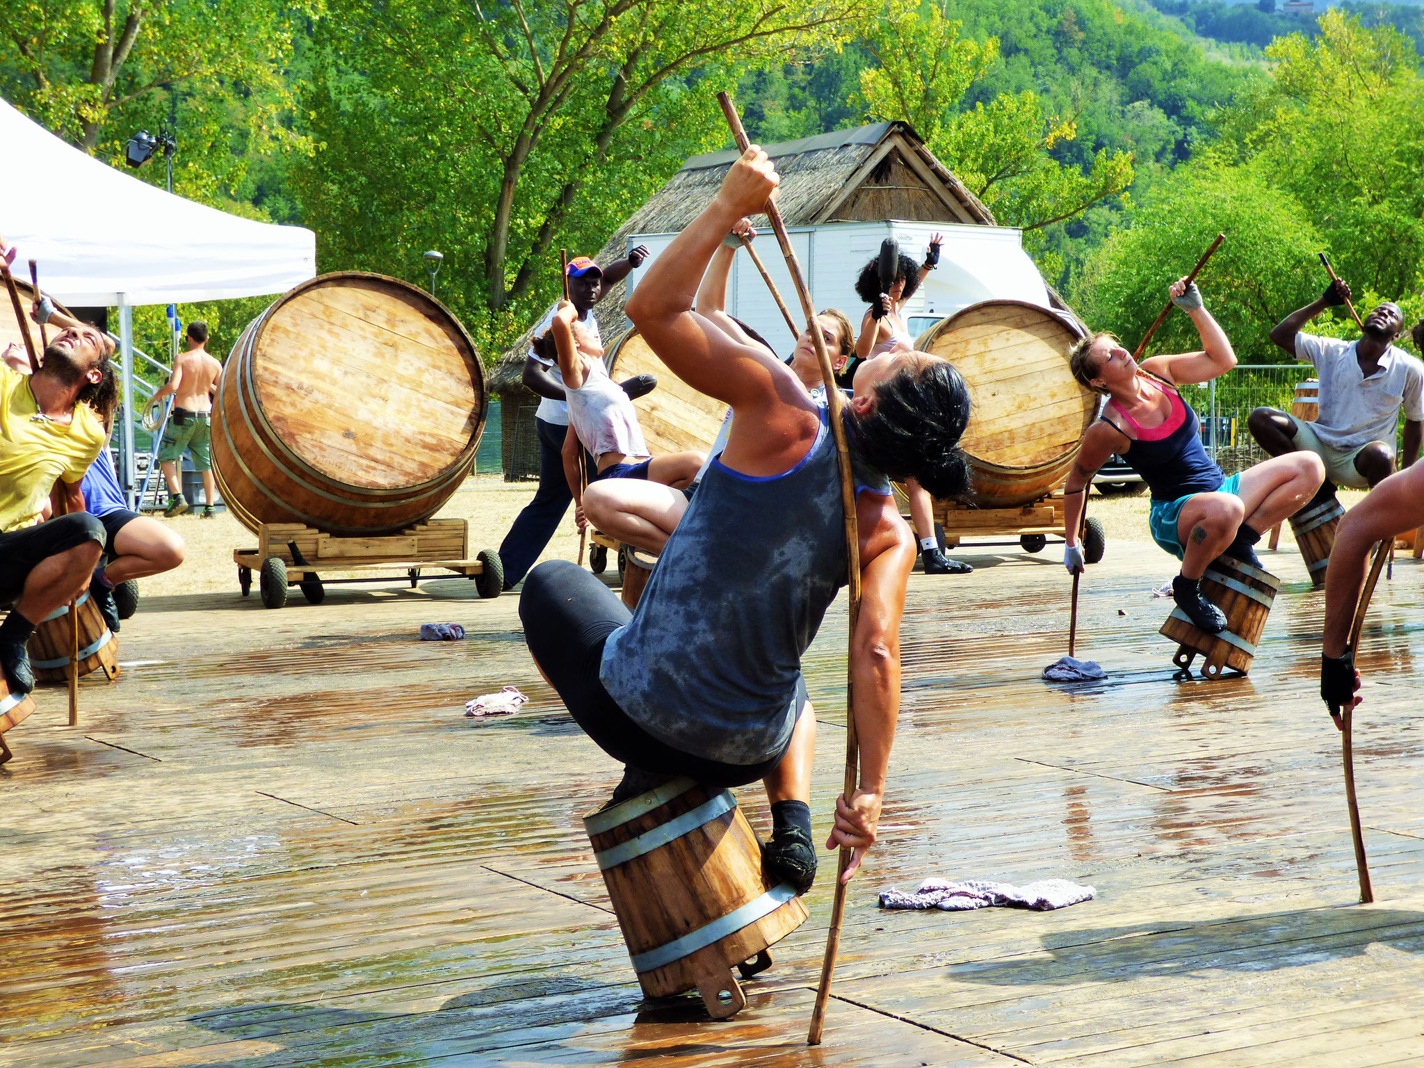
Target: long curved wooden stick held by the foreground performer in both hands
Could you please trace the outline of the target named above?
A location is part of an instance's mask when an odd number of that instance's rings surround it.
[[[732,98],[726,93],[716,94],[718,104],[722,105],[722,114],[726,117],[726,124],[732,130],[732,137],[736,138],[736,147],[740,151],[746,151],[748,138],[746,130],[742,128],[742,120],[736,114],[736,105],[732,104]],[[826,339],[822,337],[820,330],[813,329],[816,323],[816,309],[810,302],[810,289],[806,286],[806,279],[800,272],[800,263],[796,259],[796,251],[792,248],[790,236],[786,234],[786,224],[782,221],[782,214],[776,208],[776,201],[770,199],[766,202],[766,219],[772,224],[772,229],[776,232],[776,244],[782,246],[782,255],[786,258],[786,269],[792,275],[792,283],[796,286],[796,296],[800,298],[802,312],[806,315],[806,326],[810,330],[812,345],[816,346],[816,360],[820,363],[820,377],[826,384],[826,402],[830,406],[830,430],[836,439],[836,461],[840,468],[840,503],[842,510],[846,515],[846,580],[850,587],[850,642],[856,641],[856,622],[860,618],[860,533],[856,525],[856,491],[852,481],[850,473],[850,450],[846,443],[846,426],[842,422],[842,410],[844,400],[840,396],[840,390],[836,387],[836,373],[830,366],[830,353],[826,352]],[[856,793],[857,783],[857,765],[860,762],[860,748],[856,740],[856,699],[854,699],[854,681],[849,676],[846,678],[846,780],[844,780],[844,795],[849,802]],[[846,867],[850,864],[850,850],[840,850],[840,863],[836,866],[836,896],[830,909],[830,933],[826,937],[826,957],[820,967],[820,985],[816,990],[816,1007],[812,1010],[810,1017],[810,1032],[806,1041],[810,1045],[820,1045],[820,1034],[826,1024],[826,1002],[830,998],[830,977],[836,970],[836,954],[840,950],[840,923],[846,914],[846,883],[842,877],[846,873]]]

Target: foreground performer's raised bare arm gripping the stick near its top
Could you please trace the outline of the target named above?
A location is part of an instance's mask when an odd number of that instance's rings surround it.
[[[748,148],[712,204],[658,256],[625,309],[674,375],[732,406],[736,419],[722,460],[750,476],[782,474],[800,461],[816,440],[820,414],[789,367],[760,346],[732,340],[693,312],[692,302],[722,238],[743,215],[763,211],[778,182],[766,152]]]

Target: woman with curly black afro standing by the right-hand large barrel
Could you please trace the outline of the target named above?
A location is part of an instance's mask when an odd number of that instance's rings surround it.
[[[856,293],[870,305],[860,320],[860,336],[856,339],[856,359],[839,377],[844,386],[853,386],[862,367],[867,363],[884,359],[894,353],[914,347],[914,337],[904,325],[903,309],[906,302],[914,296],[926,275],[934,271],[940,262],[941,238],[936,234],[930,238],[930,246],[924,252],[924,262],[916,263],[906,255],[900,255],[894,282],[890,292],[880,292],[880,261],[871,259],[860,271],[856,279]],[[924,560],[924,574],[927,575],[965,575],[974,568],[963,560],[950,560],[940,551],[940,541],[934,534],[934,506],[930,494],[914,481],[907,478],[904,496],[910,501],[910,521],[914,524],[914,535],[920,541],[920,555]]]

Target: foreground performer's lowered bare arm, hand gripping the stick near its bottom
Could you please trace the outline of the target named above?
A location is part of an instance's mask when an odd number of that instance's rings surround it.
[[[914,567],[916,545],[900,518],[894,497],[862,493],[856,498],[860,533],[860,617],[850,646],[860,787],[847,803],[836,802],[836,826],[826,849],[849,846],[850,879],[874,844],[890,768],[896,719],[900,716],[900,618],[904,590]]]

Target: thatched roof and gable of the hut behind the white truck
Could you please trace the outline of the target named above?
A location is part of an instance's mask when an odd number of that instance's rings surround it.
[[[930,154],[907,122],[874,122],[763,148],[782,178],[776,204],[787,226],[880,219],[995,225],[988,208]],[[618,228],[595,259],[622,259],[631,234],[681,231],[712,202],[738,155],[733,150],[688,159]],[[765,218],[752,222],[766,225]],[[595,309],[605,342],[628,326],[622,306],[619,283]],[[494,392],[520,387],[531,332],[496,366],[490,379]]]

